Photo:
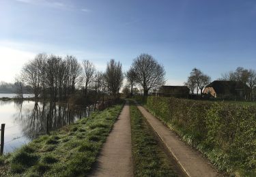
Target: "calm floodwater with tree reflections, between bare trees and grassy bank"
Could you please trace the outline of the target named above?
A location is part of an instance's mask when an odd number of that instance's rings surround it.
[[[88,108],[69,108],[55,103],[0,101],[0,124],[5,123],[4,152],[12,152],[39,135],[74,123],[88,116],[88,112]]]

